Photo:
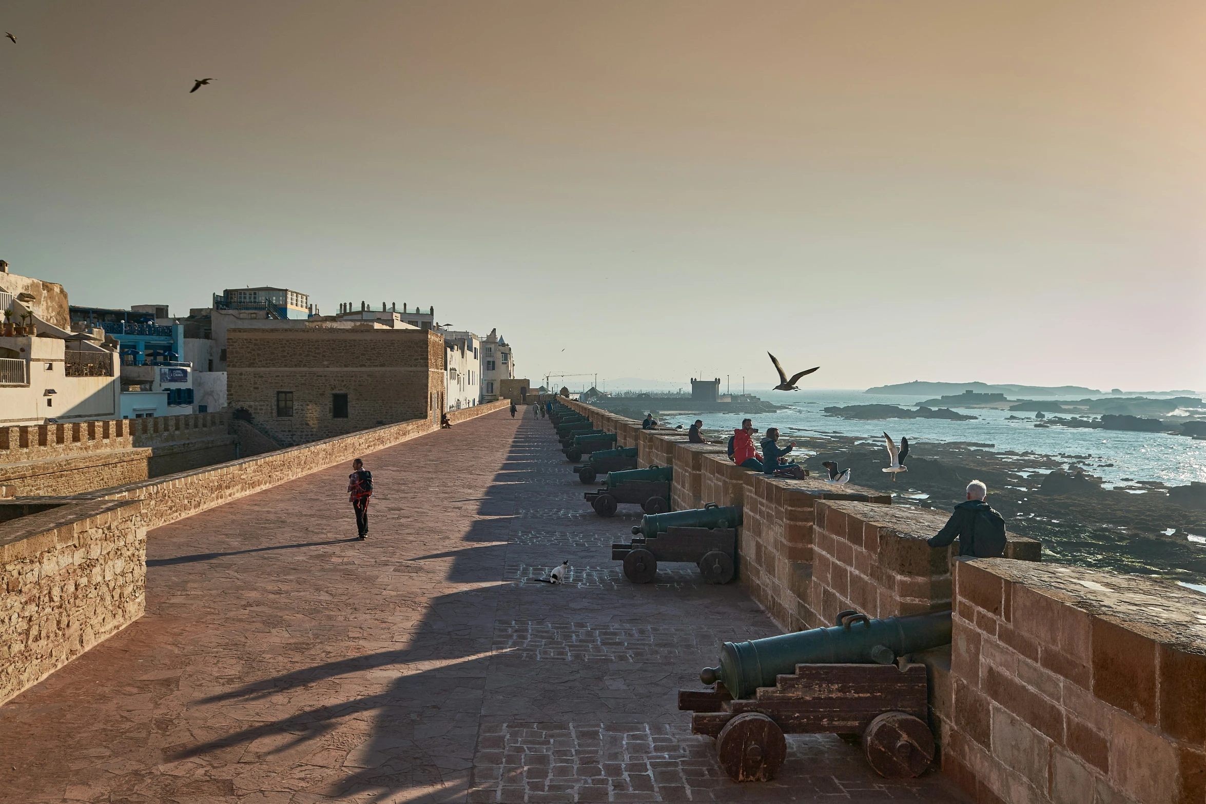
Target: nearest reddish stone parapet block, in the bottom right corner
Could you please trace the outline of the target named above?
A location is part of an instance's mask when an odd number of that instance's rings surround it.
[[[958,562],[943,770],[985,804],[1201,804],[1204,612],[1165,581]]]

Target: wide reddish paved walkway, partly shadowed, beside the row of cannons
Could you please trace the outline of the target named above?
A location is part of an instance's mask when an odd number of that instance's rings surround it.
[[[736,785],[680,686],[775,633],[736,586],[610,561],[548,421],[505,411],[151,533],[147,614],[0,708],[2,802],[964,800],[789,736]],[[624,506],[631,507],[631,506]],[[543,576],[569,559],[570,583]]]

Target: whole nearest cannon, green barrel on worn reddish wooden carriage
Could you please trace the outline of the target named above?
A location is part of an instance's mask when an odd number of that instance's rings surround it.
[[[926,668],[909,655],[950,642],[950,611],[871,620],[843,611],[838,624],[725,642],[720,664],[680,689],[691,732],[716,738],[736,781],[773,779],[784,734],[861,735],[871,767],[889,779],[920,775],[933,761]]]

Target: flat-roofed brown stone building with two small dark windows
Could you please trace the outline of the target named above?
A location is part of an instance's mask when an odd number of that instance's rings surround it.
[[[227,331],[227,401],[282,446],[445,410],[444,338],[377,323]]]

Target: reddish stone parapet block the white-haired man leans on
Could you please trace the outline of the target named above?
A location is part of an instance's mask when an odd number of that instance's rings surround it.
[[[816,504],[812,626],[829,626],[839,611],[894,617],[952,608],[952,558],[959,541],[930,547],[948,516],[927,509],[825,500]],[[1006,556],[1038,561],[1042,545],[1006,534]]]

